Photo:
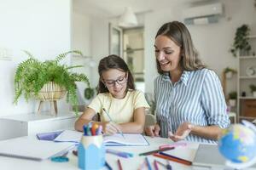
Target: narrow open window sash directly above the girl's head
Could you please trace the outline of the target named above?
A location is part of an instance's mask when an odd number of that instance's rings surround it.
[[[123,30],[119,26],[109,23],[109,54],[116,54],[123,58]]]

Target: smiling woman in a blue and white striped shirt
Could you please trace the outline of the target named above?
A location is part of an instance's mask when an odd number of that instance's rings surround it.
[[[154,42],[157,123],[146,127],[150,136],[215,143],[230,125],[218,76],[199,59],[189,31],[173,21],[160,27]]]

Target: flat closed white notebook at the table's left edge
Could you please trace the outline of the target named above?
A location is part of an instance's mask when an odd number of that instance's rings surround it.
[[[0,141],[0,156],[9,156],[32,161],[43,161],[51,156],[61,155],[73,148],[74,144],[55,143],[29,137]]]

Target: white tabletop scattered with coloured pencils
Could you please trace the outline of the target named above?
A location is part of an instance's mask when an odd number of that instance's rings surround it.
[[[30,136],[31,138],[36,139],[34,136]],[[26,138],[26,137],[24,137]],[[135,156],[133,158],[120,158],[118,156],[113,156],[110,154],[106,154],[106,160],[113,167],[113,170],[118,169],[117,159],[119,158],[124,170],[137,170],[138,167],[143,163],[145,156],[138,156],[139,153],[146,152],[148,150],[156,150],[159,148],[161,144],[172,144],[171,139],[163,139],[163,138],[150,138],[146,137],[148,146],[108,146],[108,148],[112,148],[114,150],[123,150],[130,153],[133,153]],[[177,147],[175,150],[172,150],[174,156],[182,157],[183,159],[187,159],[189,161],[193,161],[195,157],[195,152],[198,148],[197,143],[188,143],[186,147]],[[40,149],[38,148],[38,151]],[[67,162],[53,162],[49,160],[45,161],[30,161],[24,159],[17,159],[17,158],[10,158],[0,156],[0,165],[1,169],[9,169],[9,170],[17,170],[17,169],[26,169],[26,170],[63,170],[63,169],[79,169],[78,168],[78,157],[73,156],[72,152],[70,151],[67,155],[69,157],[69,161]],[[148,159],[151,163],[152,169],[154,169],[153,161],[158,160],[166,164],[166,160],[160,159],[154,156],[148,156]],[[193,166],[186,166],[174,161],[170,161],[172,165],[172,169],[174,170],[187,170],[187,169],[196,169],[196,170],[208,170],[209,168],[206,167],[193,167]],[[159,166],[160,167],[160,166]],[[104,170],[107,169],[104,168]],[[143,169],[148,169],[147,167]],[[163,167],[160,167],[163,169]],[[216,168],[212,168],[216,169]]]

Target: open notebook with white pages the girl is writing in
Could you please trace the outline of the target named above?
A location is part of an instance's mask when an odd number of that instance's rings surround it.
[[[74,142],[79,143],[83,133],[65,130],[57,138],[55,142]],[[105,145],[148,145],[148,141],[140,133],[124,133],[125,138],[116,133],[111,136],[104,136]]]

